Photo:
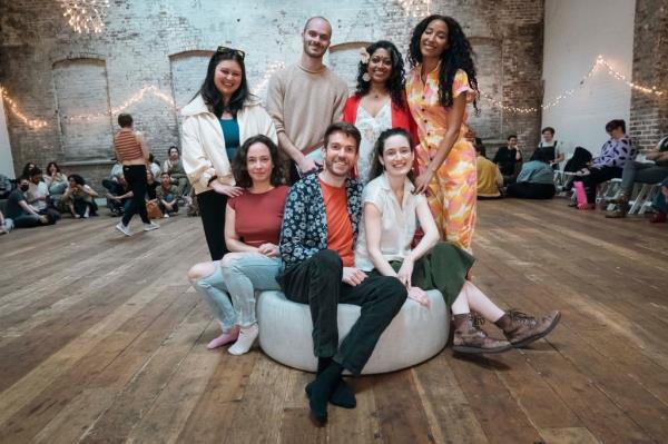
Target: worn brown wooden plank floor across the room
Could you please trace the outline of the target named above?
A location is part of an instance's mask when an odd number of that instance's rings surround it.
[[[505,308],[559,308],[561,325],[529,349],[445,348],[354,379],[357,408],[331,407],[323,428],[311,375],[206,349],[217,325],[186,280],[207,258],[198,218],[131,238],[105,216],[2,236],[0,442],[666,442],[668,226],[561,199],[479,207],[474,282]]]

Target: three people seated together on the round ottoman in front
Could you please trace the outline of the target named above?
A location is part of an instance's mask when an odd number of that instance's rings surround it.
[[[326,421],[328,402],[355,406],[342,372],[362,372],[406,298],[428,309],[426,290],[443,295],[453,314],[453,349],[459,353],[523,347],[546,336],[560,318],[559,312],[539,318],[504,312],[468,279],[474,258],[440,240],[426,197],[415,193],[415,148],[407,131],[381,132],[366,186],[352,177],[361,138],[355,126],[332,124],[321,149],[322,170],[291,188],[272,139],[248,138],[232,161],[243,191],[227,201],[225,241],[230,253],[188,273],[220,325],[222,334],[208,348],[234,343],[230,354],[250,349],[259,334],[256,292],[283,290],[288,299],[310,305],[318,363],[306,393],[318,421]],[[418,227],[422,236],[416,236]],[[340,303],[362,307],[341,345]],[[505,338],[488,336],[471,310],[494,323]]]

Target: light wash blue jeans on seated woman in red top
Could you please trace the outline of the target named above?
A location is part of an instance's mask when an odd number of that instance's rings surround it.
[[[234,259],[214,263],[214,273],[195,283],[224,332],[238,324],[249,327],[255,318],[255,292],[281,289],[276,275],[283,270],[281,258],[244,253]],[[229,297],[232,296],[232,302]]]

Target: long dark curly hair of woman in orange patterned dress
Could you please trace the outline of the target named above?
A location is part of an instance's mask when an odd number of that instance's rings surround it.
[[[475,76],[475,66],[473,63],[473,49],[462,27],[452,17],[432,14],[423,19],[411,37],[409,46],[409,62],[411,67],[422,63],[422,52],[420,51],[420,38],[426,30],[429,23],[434,20],[441,20],[448,26],[448,47],[441,53],[441,66],[439,67],[439,101],[444,108],[452,107],[452,82],[458,69],[462,69],[469,76],[469,86],[478,91],[478,78]],[[473,100],[473,108],[478,112],[478,99]]]

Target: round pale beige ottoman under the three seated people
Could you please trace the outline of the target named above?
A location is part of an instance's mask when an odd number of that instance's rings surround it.
[[[445,346],[450,313],[441,294],[428,292],[430,307],[406,299],[383,332],[362,374],[393,372],[419,364]],[[308,305],[293,303],[281,292],[262,292],[257,306],[259,346],[273,359],[307,372],[315,372],[313,322]],[[338,343],[360,317],[356,305],[338,305]]]

